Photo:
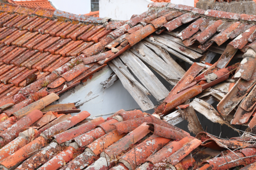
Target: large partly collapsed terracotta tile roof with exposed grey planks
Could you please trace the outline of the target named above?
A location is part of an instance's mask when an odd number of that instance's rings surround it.
[[[255,161],[250,133],[244,132],[243,140],[207,134],[195,111],[232,128],[248,123],[254,129],[256,16],[171,3],[149,7],[128,21],[115,21],[0,4],[1,167],[135,170],[168,164],[179,169],[192,161],[201,169],[224,170]],[[184,71],[169,53],[190,68]],[[230,62],[242,56],[240,63]],[[144,63],[174,85],[170,92]],[[51,105],[106,65],[142,110],[154,108],[149,94],[163,100],[155,114],[120,110],[106,120],[86,120],[90,113],[74,103]],[[195,138],[174,126],[185,119]]]

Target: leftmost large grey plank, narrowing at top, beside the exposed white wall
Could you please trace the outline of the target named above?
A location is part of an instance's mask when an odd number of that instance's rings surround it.
[[[123,75],[123,73],[114,66],[112,61],[108,62],[108,65],[115,72],[115,74],[117,74],[118,78],[123,84],[123,87],[125,87],[125,89],[131,94],[133,99],[138,103],[139,107],[141,107],[143,111],[147,111],[155,107],[147,95],[136,85],[134,85],[134,83],[132,83],[127,77],[125,77],[125,75]]]

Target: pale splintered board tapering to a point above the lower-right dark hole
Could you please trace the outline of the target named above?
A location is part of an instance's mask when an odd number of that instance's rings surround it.
[[[232,126],[227,120],[224,120],[224,118],[222,118],[219,115],[219,113],[214,109],[214,107],[212,105],[208,104],[207,102],[195,98],[192,102],[190,102],[189,105],[193,106],[193,108],[197,112],[204,115],[210,121],[212,121],[214,123],[219,123],[219,124],[226,124],[230,128],[234,128],[234,126]]]

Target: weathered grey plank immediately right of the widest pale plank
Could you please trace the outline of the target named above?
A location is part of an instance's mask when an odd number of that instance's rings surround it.
[[[130,51],[139,57],[142,61],[145,61],[152,68],[156,69],[158,72],[161,72],[166,78],[171,80],[179,81],[181,76],[176,72],[175,69],[172,69],[168,66],[165,61],[163,61],[158,55],[145,46],[142,42],[137,43],[130,48]]]

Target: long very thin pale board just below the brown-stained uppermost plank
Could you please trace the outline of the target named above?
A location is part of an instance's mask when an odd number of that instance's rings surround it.
[[[166,51],[170,52],[171,54],[175,55],[176,57],[180,58],[181,60],[186,61],[187,63],[189,63],[190,65],[194,64],[193,61],[189,60],[189,58],[183,56],[182,54],[179,54],[178,52],[174,51],[173,49],[170,49],[169,47],[165,46],[164,44],[157,42],[157,41],[151,41],[149,38],[144,38],[144,40],[146,42],[149,42],[150,44],[156,45],[156,46],[160,46],[163,49],[165,49]],[[209,68],[210,66],[205,65],[203,63],[197,63],[199,66],[201,67],[206,67]]]

